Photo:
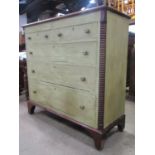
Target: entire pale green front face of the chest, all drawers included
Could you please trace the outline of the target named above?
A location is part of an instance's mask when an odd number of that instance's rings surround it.
[[[94,128],[98,121],[99,14],[25,27],[30,100]]]

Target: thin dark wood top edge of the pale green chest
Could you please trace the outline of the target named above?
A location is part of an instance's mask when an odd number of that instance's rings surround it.
[[[102,9],[103,10],[109,10],[111,12],[119,14],[120,16],[123,16],[123,17],[126,17],[126,18],[130,19],[130,17],[128,15],[123,14],[123,13],[121,13],[121,12],[119,12],[119,11],[113,9],[113,8],[102,5],[102,6],[91,8],[91,9],[88,9],[88,10],[85,10],[85,11],[78,11],[78,12],[70,13],[70,14],[67,14],[67,15],[64,15],[64,16],[53,17],[53,18],[42,20],[42,21],[37,21],[37,22],[30,23],[30,24],[26,24],[26,25],[23,25],[23,28],[33,26],[33,25],[42,24],[42,23],[46,23],[46,22],[50,22],[50,21],[61,20],[61,19],[65,19],[65,18],[77,16],[77,15],[83,15],[83,14],[87,14],[87,13],[90,13],[90,12],[95,12],[95,11],[102,10]]]

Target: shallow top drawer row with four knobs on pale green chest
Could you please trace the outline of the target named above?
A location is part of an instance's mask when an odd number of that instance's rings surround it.
[[[26,34],[26,43],[68,43],[81,41],[96,41],[99,39],[98,23],[69,26],[60,29]]]

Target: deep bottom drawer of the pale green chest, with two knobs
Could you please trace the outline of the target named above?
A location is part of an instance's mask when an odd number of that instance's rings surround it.
[[[30,100],[88,126],[96,124],[96,98],[85,91],[29,80]]]

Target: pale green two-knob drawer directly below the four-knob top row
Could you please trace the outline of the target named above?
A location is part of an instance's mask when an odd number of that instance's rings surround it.
[[[28,59],[95,66],[98,53],[98,42],[32,45],[28,50]]]

